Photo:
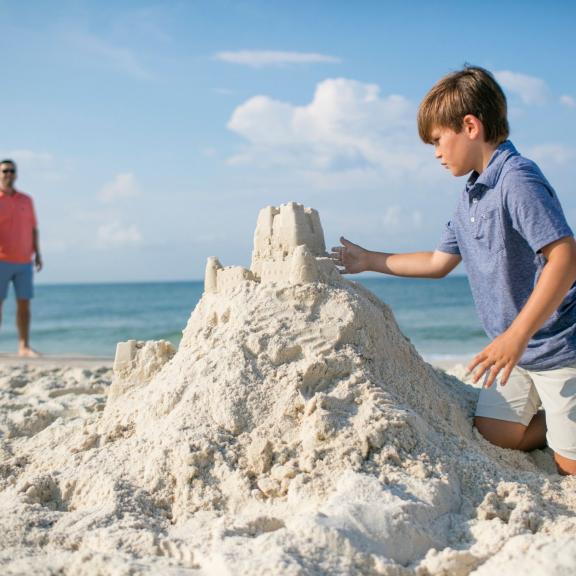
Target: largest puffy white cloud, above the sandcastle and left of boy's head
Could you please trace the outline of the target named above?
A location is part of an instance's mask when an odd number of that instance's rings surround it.
[[[432,159],[417,139],[415,114],[403,96],[382,97],[378,86],[345,78],[320,82],[305,106],[255,96],[228,122],[248,143],[229,162],[286,165],[309,174],[404,177]]]

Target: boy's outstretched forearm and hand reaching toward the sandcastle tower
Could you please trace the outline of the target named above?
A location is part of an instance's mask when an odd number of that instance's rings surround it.
[[[342,246],[332,248],[330,257],[344,274],[358,272],[382,272],[393,276],[417,278],[443,278],[454,270],[462,258],[446,252],[413,252],[411,254],[388,254],[366,250],[346,238],[340,238]]]

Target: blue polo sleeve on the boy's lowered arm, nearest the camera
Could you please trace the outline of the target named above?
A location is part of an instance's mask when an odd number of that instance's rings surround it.
[[[574,235],[554,189],[537,168],[510,171],[504,176],[503,190],[512,227],[534,252]]]

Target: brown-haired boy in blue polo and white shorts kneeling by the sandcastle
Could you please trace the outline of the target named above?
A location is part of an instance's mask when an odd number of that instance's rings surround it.
[[[504,448],[548,445],[576,474],[576,243],[556,194],[508,138],[506,97],[486,70],[442,78],[418,111],[421,139],[454,176],[471,173],[434,252],[332,249],[344,273],[442,278],[466,263],[492,342],[469,364],[484,377],[475,426]],[[544,412],[539,412],[540,403]]]

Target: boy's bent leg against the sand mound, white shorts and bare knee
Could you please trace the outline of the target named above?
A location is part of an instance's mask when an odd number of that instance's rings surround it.
[[[546,445],[544,415],[538,413],[540,398],[530,374],[514,368],[505,386],[499,379],[482,388],[474,424],[492,444],[515,450],[534,450]]]

